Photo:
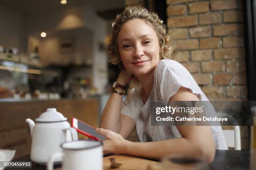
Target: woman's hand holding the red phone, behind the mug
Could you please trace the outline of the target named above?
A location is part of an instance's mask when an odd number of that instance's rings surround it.
[[[120,134],[103,128],[97,128],[96,131],[106,137],[103,141],[104,153],[125,153],[127,140],[125,140]]]

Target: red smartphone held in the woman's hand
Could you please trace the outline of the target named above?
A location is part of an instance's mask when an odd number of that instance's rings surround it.
[[[86,123],[82,122],[81,120],[78,120],[76,118],[72,118],[71,126],[77,130],[77,132],[82,133],[83,135],[93,139],[93,140],[105,140],[106,137],[103,135],[100,135],[97,133],[95,128],[93,128],[90,125],[87,125]]]

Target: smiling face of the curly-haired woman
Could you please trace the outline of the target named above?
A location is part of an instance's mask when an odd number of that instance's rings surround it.
[[[124,23],[118,34],[120,60],[134,75],[154,71],[159,62],[160,45],[156,32],[144,20],[132,19]]]

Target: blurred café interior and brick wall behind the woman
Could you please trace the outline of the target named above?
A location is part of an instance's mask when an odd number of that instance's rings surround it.
[[[1,148],[29,153],[24,121],[48,107],[98,127],[119,73],[106,52],[112,23],[138,6],[164,21],[173,60],[209,100],[256,100],[255,0],[0,0]]]

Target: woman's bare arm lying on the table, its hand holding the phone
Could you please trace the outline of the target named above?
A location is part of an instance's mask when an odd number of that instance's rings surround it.
[[[184,87],[170,98],[171,101],[197,101],[198,97]],[[99,129],[109,140],[104,141],[104,151],[159,159],[171,153],[214,159],[215,145],[210,126],[177,126],[182,138],[156,142],[136,143],[122,139],[118,134]],[[120,141],[120,142],[117,142]]]

